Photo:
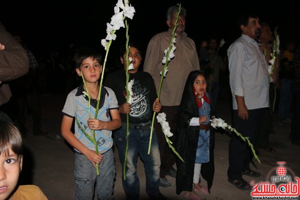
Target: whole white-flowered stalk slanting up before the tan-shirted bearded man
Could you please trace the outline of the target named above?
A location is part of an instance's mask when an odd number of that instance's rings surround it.
[[[163,59],[162,59],[162,63],[164,63],[164,65],[163,65],[162,70],[160,72],[160,84],[159,84],[159,87],[158,87],[158,95],[157,95],[158,99],[157,99],[157,102],[159,101],[159,97],[160,97],[160,91],[161,91],[161,85],[162,85],[163,77],[165,77],[165,75],[166,75],[166,73],[168,71],[167,64],[170,61],[170,59],[175,56],[174,55],[174,50],[176,49],[176,47],[174,46],[175,36],[176,36],[175,30],[177,28],[177,22],[178,22],[178,18],[179,18],[179,13],[181,11],[181,3],[179,3],[178,6],[179,6],[178,7],[178,12],[176,14],[176,19],[175,19],[175,22],[174,22],[174,27],[172,29],[172,36],[171,36],[171,39],[169,41],[169,46],[167,47],[166,50],[164,50],[164,54],[165,55],[163,56]],[[156,112],[153,112],[152,123],[151,123],[151,131],[150,131],[150,139],[149,139],[149,146],[148,146],[148,154],[150,154],[150,148],[151,148],[151,141],[152,141],[152,133],[153,133],[153,126],[154,126],[155,114],[156,114]]]

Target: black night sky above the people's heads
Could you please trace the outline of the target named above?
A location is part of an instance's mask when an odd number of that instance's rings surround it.
[[[104,53],[100,40],[106,36],[106,22],[110,22],[117,0],[91,1],[9,1],[1,2],[0,20],[6,29],[22,36],[24,43],[35,55],[48,51],[64,51],[70,43],[76,46],[92,45]],[[128,19],[130,38],[139,42],[145,51],[150,38],[167,30],[165,13],[178,0],[131,0],[135,8],[133,19]],[[281,1],[281,4],[287,4]],[[296,6],[280,5],[274,1],[181,0],[187,11],[185,31],[197,48],[202,39],[223,38],[228,45],[240,35],[236,19],[245,11],[258,13],[260,21],[272,29],[278,25],[280,40],[292,39],[299,43],[300,22]],[[5,7],[5,8],[4,8]],[[118,56],[119,46],[125,41],[124,28],[117,30],[110,56]]]

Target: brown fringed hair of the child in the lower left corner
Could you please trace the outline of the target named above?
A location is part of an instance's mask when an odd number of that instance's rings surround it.
[[[8,154],[8,149],[17,154],[22,154],[22,137],[19,130],[10,122],[0,120],[0,155]]]

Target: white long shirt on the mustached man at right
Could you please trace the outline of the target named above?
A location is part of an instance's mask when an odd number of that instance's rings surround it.
[[[227,49],[232,108],[237,109],[235,95],[243,96],[248,109],[269,106],[269,79],[265,58],[259,44],[241,34]]]

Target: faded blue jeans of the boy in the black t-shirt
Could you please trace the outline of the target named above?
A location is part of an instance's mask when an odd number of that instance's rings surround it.
[[[146,175],[146,192],[149,196],[159,193],[160,157],[155,131],[152,133],[151,149],[148,154],[150,124],[147,129],[129,128],[128,152],[126,158],[126,180],[122,176],[122,184],[127,199],[139,196],[139,180],[136,174],[137,154],[144,164]],[[126,124],[114,133],[114,142],[118,148],[119,159],[123,168],[126,149]]]

